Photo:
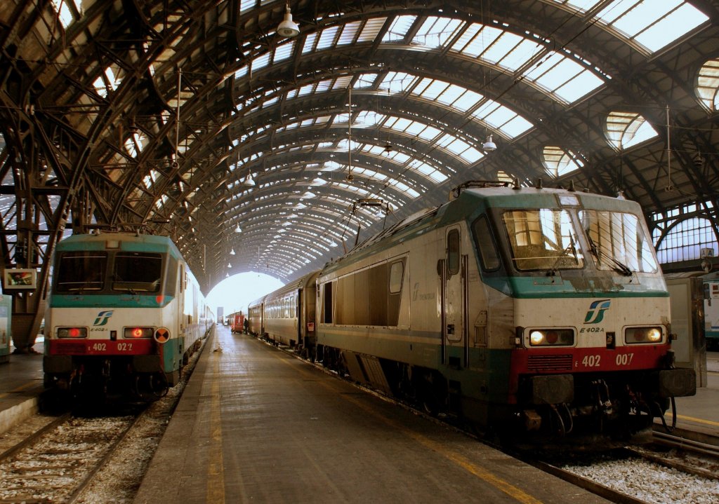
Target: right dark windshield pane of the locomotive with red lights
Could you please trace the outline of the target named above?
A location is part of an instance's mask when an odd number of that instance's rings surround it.
[[[162,254],[118,252],[112,277],[115,291],[158,292],[162,280]]]

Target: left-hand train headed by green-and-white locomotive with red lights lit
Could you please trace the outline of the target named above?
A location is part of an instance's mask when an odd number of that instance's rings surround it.
[[[214,318],[170,238],[93,233],[58,243],[45,319],[46,387],[152,399]]]

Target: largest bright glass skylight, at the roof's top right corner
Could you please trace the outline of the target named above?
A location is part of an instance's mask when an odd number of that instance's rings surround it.
[[[597,17],[651,52],[709,19],[681,0],[616,0]]]

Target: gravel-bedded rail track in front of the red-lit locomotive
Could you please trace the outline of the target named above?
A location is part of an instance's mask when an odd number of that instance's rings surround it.
[[[0,455],[0,503],[75,502],[142,411],[104,418],[63,414],[6,449]]]

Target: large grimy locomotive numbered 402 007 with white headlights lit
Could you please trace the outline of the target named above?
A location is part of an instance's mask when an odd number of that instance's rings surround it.
[[[467,182],[326,264],[316,323],[325,365],[515,440],[627,439],[695,393],[641,207],[589,192]]]

